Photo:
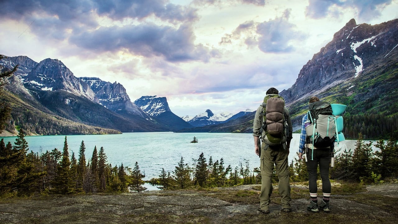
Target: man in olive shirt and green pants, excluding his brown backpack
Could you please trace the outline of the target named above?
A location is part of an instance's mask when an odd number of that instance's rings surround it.
[[[270,88],[267,90],[267,96],[278,94],[278,90],[276,88]],[[266,96],[266,97],[267,97]],[[278,97],[282,98],[278,95]],[[283,99],[283,98],[282,98]],[[265,100],[264,100],[265,101]],[[291,136],[293,133],[292,122],[290,118],[289,111],[284,106],[283,101],[283,130],[285,133],[281,138],[281,144],[270,143],[268,141],[269,136],[267,137],[269,131],[269,125],[264,125],[264,123],[272,123],[264,122],[264,119],[268,121],[268,117],[265,118],[264,108],[270,107],[269,101],[264,105],[265,102],[259,106],[256,111],[256,116],[253,120],[253,136],[254,136],[254,149],[257,155],[260,156],[260,170],[261,170],[261,192],[260,192],[260,206],[258,210],[262,213],[269,213],[269,203],[271,202],[271,194],[273,190],[272,186],[272,174],[273,167],[275,165],[275,170],[279,178],[279,195],[281,196],[281,204],[283,212],[291,212],[291,196],[290,196],[290,183],[289,183],[289,169],[288,169],[288,155],[289,155],[289,147]],[[263,131],[264,129],[265,131]],[[261,149],[259,148],[259,138],[261,137]],[[272,138],[272,137],[271,137]]]

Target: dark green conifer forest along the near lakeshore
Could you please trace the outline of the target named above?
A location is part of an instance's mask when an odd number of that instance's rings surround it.
[[[227,187],[261,183],[259,168],[249,169],[249,163],[232,168],[224,160],[206,159],[201,153],[188,164],[181,157],[173,171],[162,169],[158,178],[143,181],[145,176],[136,162],[134,167],[123,163],[107,163],[105,149],[94,148],[91,158],[86,157],[86,146],[81,142],[79,154],[68,153],[65,136],[64,147],[44,153],[29,151],[23,130],[14,144],[0,141],[0,196],[30,196],[38,194],[123,193],[146,191],[148,182],[162,190],[196,187]],[[373,151],[371,142],[362,136],[353,151],[335,152],[335,167],[330,169],[331,179],[361,183],[381,183],[398,177],[398,145],[394,139],[377,141]],[[304,160],[294,159],[289,165],[292,182],[308,181]],[[277,183],[274,173],[273,181]]]

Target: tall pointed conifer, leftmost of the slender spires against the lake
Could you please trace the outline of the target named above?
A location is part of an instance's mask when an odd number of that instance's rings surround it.
[[[65,136],[62,159],[57,167],[57,175],[54,179],[52,192],[56,194],[71,194],[76,191],[75,186],[76,184],[70,171],[68,141]]]

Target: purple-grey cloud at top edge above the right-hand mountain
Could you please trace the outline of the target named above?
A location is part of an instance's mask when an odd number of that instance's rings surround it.
[[[392,0],[309,0],[306,16],[314,19],[325,18],[328,15],[338,17],[341,10],[352,8],[359,18],[369,19],[381,15],[381,10],[391,4]]]

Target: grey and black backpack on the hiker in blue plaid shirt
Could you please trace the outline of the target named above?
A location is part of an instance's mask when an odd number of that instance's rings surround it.
[[[308,120],[306,126],[307,143],[312,143],[316,148],[326,148],[334,144],[336,138],[336,116],[333,115],[332,106],[328,102],[312,102],[308,107]]]

